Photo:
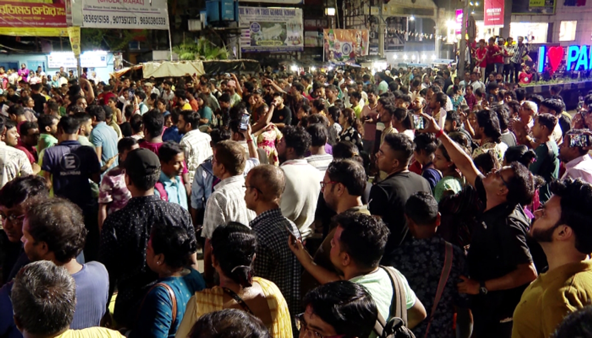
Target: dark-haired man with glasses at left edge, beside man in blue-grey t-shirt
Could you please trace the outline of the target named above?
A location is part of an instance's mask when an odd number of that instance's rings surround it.
[[[4,229],[0,232],[0,248],[4,251],[2,284],[12,280],[18,270],[29,262],[22,249],[22,220],[25,217],[25,204],[33,197],[49,197],[49,190],[40,176],[17,177],[0,190],[0,217]]]

